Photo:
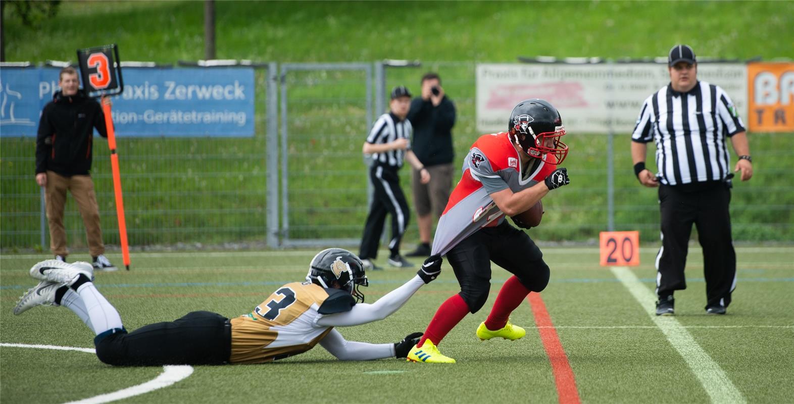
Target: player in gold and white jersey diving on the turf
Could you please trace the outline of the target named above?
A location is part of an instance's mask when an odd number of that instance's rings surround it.
[[[30,268],[40,283],[28,290],[14,314],[40,305],[65,306],[96,337],[99,360],[120,366],[164,364],[260,364],[297,355],[320,344],[339,360],[404,358],[422,333],[395,344],[346,341],[334,327],[382,320],[436,279],[441,257],[430,256],[407,283],[372,304],[360,287],[368,286],[361,260],[341,248],[318,252],[306,281],[279,287],[249,314],[229,320],[194,311],[175,321],[145,325],[128,333],[114,306],[99,293],[87,263],[42,261]]]

